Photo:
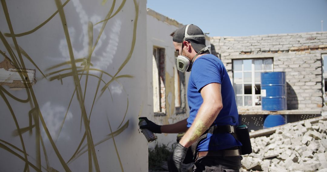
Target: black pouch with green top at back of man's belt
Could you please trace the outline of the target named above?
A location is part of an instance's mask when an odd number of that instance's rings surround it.
[[[245,124],[237,125],[235,134],[236,134],[236,139],[242,143],[241,154],[246,155],[252,153],[252,146],[251,146],[248,126],[246,126]]]

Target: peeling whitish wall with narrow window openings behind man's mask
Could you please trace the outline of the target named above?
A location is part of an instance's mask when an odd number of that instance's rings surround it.
[[[165,107],[166,112],[161,115],[156,115],[153,112],[153,83],[147,83],[148,89],[148,100],[149,106],[152,111],[147,114],[148,119],[153,120],[158,124],[172,124],[181,121],[189,116],[189,107],[187,105],[186,90],[188,84],[188,78],[190,73],[185,72],[185,101],[182,102],[185,105],[185,113],[176,114],[175,108],[175,78],[177,74],[176,59],[175,59],[175,48],[172,42],[172,37],[169,36],[173,31],[182,26],[181,23],[175,21],[174,19],[163,16],[151,9],[147,11],[147,80],[152,81],[153,66],[152,55],[153,47],[163,48],[165,50],[165,61],[164,61],[164,71],[165,71]],[[207,37],[207,45],[210,45],[209,37]],[[163,65],[163,64],[160,64]],[[149,147],[154,147],[156,144],[166,144],[171,145],[176,143],[177,134],[157,134],[158,139],[154,143],[150,143]]]

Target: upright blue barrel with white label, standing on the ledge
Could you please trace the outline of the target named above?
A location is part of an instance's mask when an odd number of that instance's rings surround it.
[[[261,73],[262,110],[287,110],[285,72]]]

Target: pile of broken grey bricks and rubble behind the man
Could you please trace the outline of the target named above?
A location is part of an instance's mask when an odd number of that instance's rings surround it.
[[[327,172],[327,121],[288,123],[270,136],[251,138],[253,152],[240,171]]]

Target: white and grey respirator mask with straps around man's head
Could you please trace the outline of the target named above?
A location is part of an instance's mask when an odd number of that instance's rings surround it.
[[[183,41],[185,41],[186,38],[190,38],[190,37],[204,37],[204,35],[188,35],[187,34],[187,29],[188,29],[188,26],[186,26],[185,28],[185,34],[184,34],[184,38],[183,38]],[[183,56],[183,55],[179,55],[176,57],[176,65],[177,65],[177,69],[181,72],[189,72],[191,71],[191,68],[192,68],[192,64],[193,64],[193,61],[195,60],[195,58],[201,54],[202,52],[204,51],[207,51],[209,50],[209,48],[211,47],[211,45],[208,45],[206,47],[204,47],[203,49],[201,49],[192,59],[192,62],[189,58],[187,58],[186,56]],[[181,51],[183,51],[183,44],[182,44],[182,49]]]

